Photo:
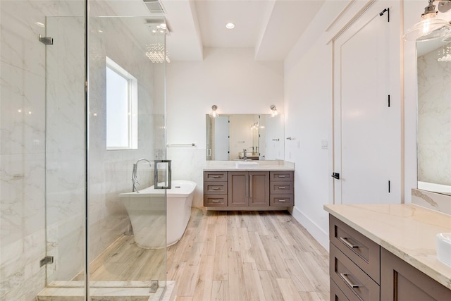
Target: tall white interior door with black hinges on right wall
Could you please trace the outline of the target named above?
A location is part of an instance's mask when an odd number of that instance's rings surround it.
[[[400,115],[388,104],[395,54],[384,8],[373,4],[334,43],[335,204],[400,202]]]

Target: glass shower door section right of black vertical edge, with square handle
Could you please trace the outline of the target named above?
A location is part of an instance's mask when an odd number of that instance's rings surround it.
[[[157,30],[165,21],[142,1],[126,2],[144,16],[124,13],[120,2],[91,1],[88,18],[91,295],[101,287],[132,296],[166,283],[166,193],[143,192],[156,184],[155,160],[166,159],[166,60],[154,60],[166,53]]]

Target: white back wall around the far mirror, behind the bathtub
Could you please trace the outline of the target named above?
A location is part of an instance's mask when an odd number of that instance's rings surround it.
[[[254,61],[253,49],[204,49],[204,61],[171,62],[167,66],[168,144],[174,180],[197,183],[194,207],[203,206],[205,114],[271,113],[283,109],[283,63]]]

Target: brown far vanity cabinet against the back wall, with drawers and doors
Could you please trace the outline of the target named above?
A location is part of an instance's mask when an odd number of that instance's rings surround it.
[[[294,206],[293,171],[204,171],[204,206]]]

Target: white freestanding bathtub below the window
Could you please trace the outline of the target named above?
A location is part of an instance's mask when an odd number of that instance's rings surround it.
[[[132,222],[135,242],[144,249],[160,249],[182,238],[191,216],[192,198],[196,183],[173,180],[171,189],[154,186],[119,196]],[[167,215],[165,191],[167,193]],[[166,217],[167,216],[167,217]],[[166,228],[166,231],[165,231]]]

